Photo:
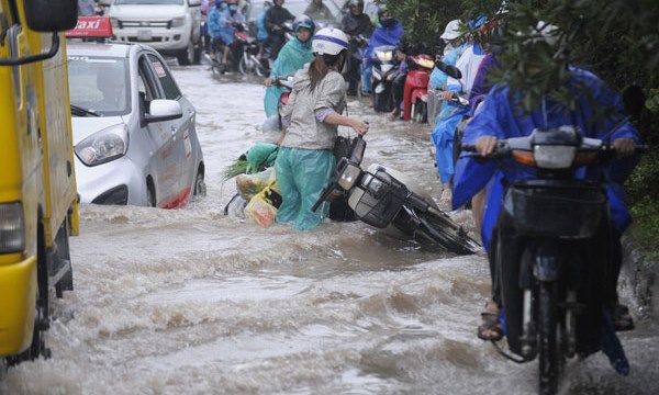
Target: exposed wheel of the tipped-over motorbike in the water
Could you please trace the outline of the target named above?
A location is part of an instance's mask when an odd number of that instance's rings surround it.
[[[480,250],[478,241],[456,224],[448,215],[431,208],[418,215],[421,224],[416,230],[423,237],[437,242],[445,249],[457,255],[471,255]]]

